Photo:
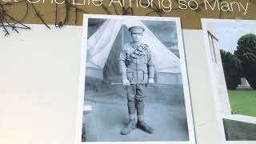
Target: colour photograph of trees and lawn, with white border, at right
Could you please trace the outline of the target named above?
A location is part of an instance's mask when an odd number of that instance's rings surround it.
[[[202,19],[226,141],[256,141],[256,21]]]

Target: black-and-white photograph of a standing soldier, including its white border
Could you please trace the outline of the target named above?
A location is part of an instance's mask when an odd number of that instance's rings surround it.
[[[84,14],[82,142],[194,144],[180,18]]]

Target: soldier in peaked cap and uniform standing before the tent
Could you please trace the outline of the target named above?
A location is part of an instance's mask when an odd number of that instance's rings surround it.
[[[130,122],[121,130],[121,134],[130,134],[136,126],[152,134],[154,130],[144,121],[144,98],[147,84],[154,83],[154,63],[149,46],[142,42],[145,29],[142,26],[131,26],[128,30],[132,41],[123,46],[118,59],[122,83],[126,87]]]

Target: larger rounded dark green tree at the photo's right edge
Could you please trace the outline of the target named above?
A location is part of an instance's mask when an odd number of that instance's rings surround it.
[[[246,34],[238,39],[238,50],[234,54],[241,60],[243,75],[256,89],[256,35]]]

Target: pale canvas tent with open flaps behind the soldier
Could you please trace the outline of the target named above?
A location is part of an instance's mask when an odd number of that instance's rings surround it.
[[[86,77],[103,79],[103,70],[108,61],[116,39],[124,37],[122,27],[143,26],[143,42],[150,46],[154,59],[157,80],[160,83],[181,84],[181,68],[179,58],[156,38],[141,21],[106,20],[102,26],[88,39],[86,56]],[[128,32],[126,32],[128,34]],[[126,35],[127,35],[126,34]],[[122,38],[123,39],[123,38]],[[123,41],[123,40],[122,40]],[[119,44],[121,50],[124,42]],[[118,58],[116,58],[117,60]],[[116,66],[115,66],[116,67]]]

